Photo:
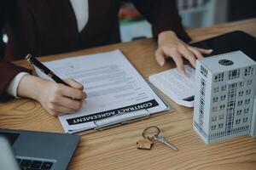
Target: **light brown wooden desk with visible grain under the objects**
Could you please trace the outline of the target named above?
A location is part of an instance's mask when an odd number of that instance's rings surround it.
[[[242,30],[256,36],[256,19],[212,26],[189,31],[195,41],[217,36],[227,31]],[[169,63],[160,67],[154,59],[156,43],[152,39],[85,49],[70,54],[58,54],[41,60],[94,54],[119,48],[125,56],[148,78],[149,75],[173,67]],[[25,61],[17,62],[25,65]],[[81,135],[70,169],[256,169],[256,138],[240,137],[218,144],[204,144],[192,129],[193,110],[168,102],[174,112],[141,122],[115,127],[98,133]],[[145,127],[156,125],[162,135],[177,145],[179,151],[154,144],[152,150],[137,150]],[[63,133],[61,123],[31,99],[15,99],[0,104],[0,127]]]

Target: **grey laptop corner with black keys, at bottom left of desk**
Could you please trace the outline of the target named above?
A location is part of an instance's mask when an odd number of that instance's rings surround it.
[[[0,144],[4,139],[9,141],[19,168],[36,169],[67,169],[80,137],[66,133],[43,133],[24,130],[0,128]],[[0,152],[8,150],[0,145]],[[9,159],[11,161],[11,158]],[[8,163],[9,161],[5,161]],[[11,161],[13,162],[13,161]],[[2,168],[1,168],[2,169]],[[15,169],[10,167],[9,169]]]

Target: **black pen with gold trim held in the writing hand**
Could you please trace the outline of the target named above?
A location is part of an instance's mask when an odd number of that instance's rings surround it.
[[[41,63],[38,59],[32,57],[32,54],[27,54],[25,59],[32,65],[35,65],[36,67],[38,67],[38,69],[40,71],[44,72],[44,74],[46,74],[48,77],[52,78],[55,82],[64,84],[68,87],[71,87],[69,84],[67,84],[67,82],[64,82],[60,77],[57,77],[53,71],[49,70],[49,68],[47,66],[45,66],[43,63]],[[76,100],[78,100],[78,99],[76,99]],[[84,102],[85,102],[85,100],[84,100]]]

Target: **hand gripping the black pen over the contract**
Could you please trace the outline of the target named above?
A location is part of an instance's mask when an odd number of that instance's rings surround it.
[[[82,107],[86,94],[79,82],[66,82],[72,88],[39,77],[25,76],[20,80],[17,95],[38,100],[53,116],[73,113]]]

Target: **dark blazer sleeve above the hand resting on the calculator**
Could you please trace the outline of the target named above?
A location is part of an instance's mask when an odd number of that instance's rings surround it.
[[[177,12],[176,0],[133,0],[136,8],[153,26],[154,37],[162,31],[174,31],[184,42],[191,41],[184,31],[181,17]]]

